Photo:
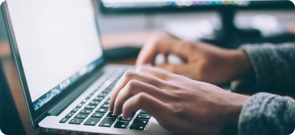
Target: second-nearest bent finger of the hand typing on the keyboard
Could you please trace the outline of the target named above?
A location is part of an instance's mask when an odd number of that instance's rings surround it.
[[[159,99],[165,98],[166,95],[165,92],[158,87],[140,82],[138,80],[130,80],[127,85],[119,92],[115,100],[114,115],[122,114],[122,107],[124,102],[140,92],[146,92]]]

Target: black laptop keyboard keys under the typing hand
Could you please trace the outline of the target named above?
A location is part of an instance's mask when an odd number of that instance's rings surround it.
[[[132,116],[126,119],[108,111],[111,90],[123,73],[122,68],[117,69],[99,89],[77,104],[59,123],[144,130],[151,118],[144,110],[133,111]]]

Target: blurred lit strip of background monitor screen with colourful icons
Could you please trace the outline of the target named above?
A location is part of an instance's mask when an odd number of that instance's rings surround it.
[[[263,1],[264,3],[261,3]],[[288,1],[288,0],[101,0],[103,7],[109,9],[141,9],[141,8],[163,8],[163,7],[210,7],[210,6],[237,6],[247,7],[251,5],[267,4],[273,1]],[[257,3],[258,2],[258,3]],[[274,3],[276,4],[276,3]],[[293,5],[294,6],[294,5]],[[203,8],[206,9],[206,8]]]

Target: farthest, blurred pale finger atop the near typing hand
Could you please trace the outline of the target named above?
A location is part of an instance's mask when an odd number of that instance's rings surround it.
[[[140,65],[136,71],[153,75],[165,81],[171,80],[174,75],[174,74],[171,74],[171,72],[168,72],[167,70],[163,70],[163,68],[155,67],[150,64]]]

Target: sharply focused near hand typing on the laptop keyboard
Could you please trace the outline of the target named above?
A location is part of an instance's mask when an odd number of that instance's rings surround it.
[[[238,117],[249,96],[144,65],[127,71],[114,87],[109,111],[114,115],[144,109],[163,128],[178,134],[220,134]]]

